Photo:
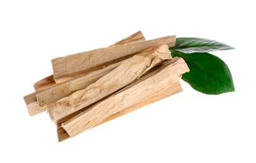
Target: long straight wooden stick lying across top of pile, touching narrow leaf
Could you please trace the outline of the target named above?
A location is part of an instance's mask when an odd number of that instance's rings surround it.
[[[163,44],[174,46],[175,36],[165,36],[148,41],[99,48],[75,55],[55,58],[52,60],[53,76],[56,82],[67,80],[78,73],[97,70],[103,66],[111,65],[116,61]]]

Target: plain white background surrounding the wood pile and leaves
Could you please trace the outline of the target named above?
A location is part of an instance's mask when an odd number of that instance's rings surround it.
[[[0,1],[0,162],[256,162],[253,1]],[[236,92],[183,92],[58,143],[47,113],[23,96],[50,60],[142,30],[221,41]]]

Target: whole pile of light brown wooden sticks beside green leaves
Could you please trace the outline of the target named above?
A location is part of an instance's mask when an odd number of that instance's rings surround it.
[[[146,41],[138,31],[107,48],[55,58],[53,75],[24,97],[28,112],[48,110],[62,141],[181,92],[179,78],[189,68],[171,58],[174,45],[175,36]]]

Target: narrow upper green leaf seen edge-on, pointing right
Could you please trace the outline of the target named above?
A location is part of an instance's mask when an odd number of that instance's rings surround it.
[[[182,53],[203,53],[217,50],[231,50],[231,46],[205,38],[177,38],[175,46],[169,50],[181,51]]]

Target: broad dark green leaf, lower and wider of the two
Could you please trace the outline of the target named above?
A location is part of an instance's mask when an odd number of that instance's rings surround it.
[[[171,55],[186,61],[190,71],[182,75],[182,80],[195,90],[209,95],[235,91],[228,66],[217,56],[209,53],[184,54],[179,51],[172,51]]]

